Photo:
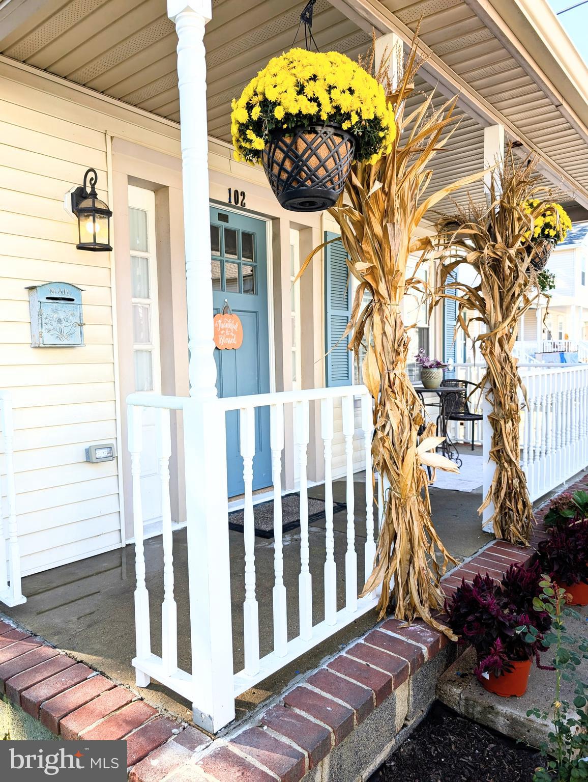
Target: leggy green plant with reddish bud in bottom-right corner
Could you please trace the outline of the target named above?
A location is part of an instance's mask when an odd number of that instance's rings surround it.
[[[533,782],[580,782],[588,780],[588,682],[579,676],[577,668],[582,658],[588,659],[588,640],[574,636],[565,626],[565,619],[582,619],[568,607],[565,590],[548,576],[543,576],[540,587],[540,597],[533,600],[533,605],[536,611],[547,611],[552,620],[551,630],[543,640],[554,648],[554,729],[549,733],[549,743],[541,746],[545,765],[536,769]],[[564,681],[575,685],[573,704],[561,700]],[[549,713],[534,707],[527,716],[547,719]]]

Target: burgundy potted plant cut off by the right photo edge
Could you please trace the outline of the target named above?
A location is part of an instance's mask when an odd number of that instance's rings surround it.
[[[534,557],[575,605],[588,605],[588,493],[561,494],[552,503]]]

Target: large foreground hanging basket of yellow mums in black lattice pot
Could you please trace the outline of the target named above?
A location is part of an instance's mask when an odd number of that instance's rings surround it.
[[[235,158],[262,163],[288,210],[334,206],[353,160],[375,162],[396,135],[383,86],[339,52],[274,57],[232,106]]]

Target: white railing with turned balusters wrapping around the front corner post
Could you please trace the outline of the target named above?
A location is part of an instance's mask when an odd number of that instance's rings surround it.
[[[129,449],[133,475],[134,536],[137,570],[135,614],[137,632],[137,684],[145,687],[151,677],[184,695],[194,704],[194,720],[216,731],[234,717],[234,697],[283,668],[342,627],[369,612],[376,594],[358,598],[358,555],[362,572],[369,574],[376,554],[376,521],[373,514],[371,449],[365,448],[366,541],[355,551],[353,441],[354,400],[361,399],[361,435],[372,439],[372,399],[365,386],[312,389],[257,396],[198,401],[187,397],[131,394],[129,404]],[[334,436],[333,400],[342,402],[342,425],[346,454],[347,544],[344,573],[337,576],[334,559],[333,493],[331,454]],[[143,514],[141,509],[142,413],[158,408],[157,458],[162,483],[163,583],[162,655],[151,653],[150,608],[145,581]],[[269,407],[270,448],[273,477],[274,584],[273,651],[260,658],[258,601],[255,574],[255,529],[253,505],[253,458],[255,457],[255,411]],[[294,458],[300,475],[300,571],[298,576],[298,636],[287,637],[287,583],[283,579],[282,453],[284,408],[292,410]],[[169,413],[184,415],[185,469],[187,475],[187,551],[191,620],[191,671],[178,668],[176,602],[173,594],[172,522],[169,510]],[[323,568],[324,619],[313,625],[312,576],[308,546],[307,448],[310,421],[318,418],[323,439],[325,467],[326,547]],[[244,479],[244,668],[233,676],[232,617],[228,502],[226,482],[226,413],[240,413],[240,450]],[[288,411],[289,413],[290,411]],[[289,414],[287,419],[289,419]],[[345,581],[345,605],[337,610],[337,579]],[[316,593],[315,593],[316,594]],[[265,630],[265,629],[264,629]]]

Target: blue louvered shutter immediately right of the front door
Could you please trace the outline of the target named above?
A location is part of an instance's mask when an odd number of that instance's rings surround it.
[[[325,231],[325,240],[339,234]],[[353,357],[349,336],[343,334],[351,317],[351,284],[343,242],[325,247],[325,353],[326,385],[349,386],[353,382]]]

